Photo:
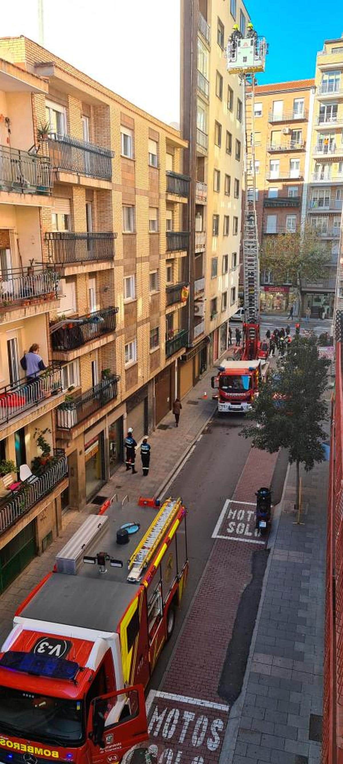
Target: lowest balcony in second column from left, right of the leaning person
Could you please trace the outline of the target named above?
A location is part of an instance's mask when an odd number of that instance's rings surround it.
[[[99,409],[117,398],[119,380],[120,377],[111,374],[82,395],[61,403],[57,408],[57,427],[69,430],[85,419],[91,419]]]

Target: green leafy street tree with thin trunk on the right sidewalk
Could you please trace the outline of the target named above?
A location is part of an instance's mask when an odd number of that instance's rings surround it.
[[[316,336],[296,336],[290,343],[286,358],[277,361],[252,404],[248,419],[241,432],[252,438],[255,448],[274,453],[287,448],[290,464],[297,465],[297,504],[300,503],[300,464],[312,470],[316,461],[322,461],[322,441],[325,432],[322,422],[327,417],[323,400],[326,369],[329,361],[319,358]]]

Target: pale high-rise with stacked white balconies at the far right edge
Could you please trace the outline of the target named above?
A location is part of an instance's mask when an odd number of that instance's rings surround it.
[[[329,249],[327,273],[306,283],[303,304],[331,317],[335,301],[343,200],[343,37],[325,40],[316,57],[306,215]]]

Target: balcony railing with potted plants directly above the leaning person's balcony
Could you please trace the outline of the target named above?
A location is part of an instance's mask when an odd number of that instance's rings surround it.
[[[57,297],[59,277],[54,270],[27,267],[2,270],[0,278],[0,307],[8,309],[18,307],[18,303],[35,303],[44,298]]]

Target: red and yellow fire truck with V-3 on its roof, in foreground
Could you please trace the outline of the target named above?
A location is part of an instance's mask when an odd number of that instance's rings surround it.
[[[0,761],[114,764],[147,740],[144,688],[187,575],[181,498],[89,515],[2,646]]]

